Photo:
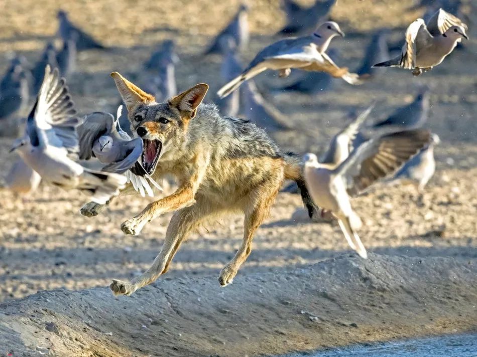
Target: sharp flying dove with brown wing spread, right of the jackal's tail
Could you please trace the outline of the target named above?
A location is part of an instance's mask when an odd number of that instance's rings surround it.
[[[429,141],[426,130],[403,131],[366,141],[339,164],[319,163],[313,153],[303,157],[305,182],[314,204],[331,211],[349,246],[361,257],[367,258],[368,253],[356,233],[362,222],[350,196],[393,173]]]

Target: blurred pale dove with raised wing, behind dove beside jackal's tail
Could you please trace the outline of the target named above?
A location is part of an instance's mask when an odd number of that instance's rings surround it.
[[[356,144],[354,141],[374,107],[375,103],[371,104],[332,137],[328,149],[320,157],[320,163],[339,165],[355,147],[361,144]]]

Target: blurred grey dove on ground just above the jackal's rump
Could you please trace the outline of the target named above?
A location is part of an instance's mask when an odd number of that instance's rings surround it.
[[[292,128],[284,115],[263,98],[254,81],[247,82],[243,90],[244,105],[241,112],[248,120],[269,133]]]

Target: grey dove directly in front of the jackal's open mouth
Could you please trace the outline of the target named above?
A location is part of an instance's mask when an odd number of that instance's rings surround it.
[[[117,118],[121,116],[123,106],[117,110]],[[146,194],[154,197],[153,190],[146,180],[156,188],[162,188],[149,176],[138,162],[143,153],[143,139],[132,139],[125,131],[121,130],[118,120],[112,114],[94,112],[84,117],[78,126],[79,158],[88,160],[96,157],[105,166],[105,172],[122,173],[131,182],[133,188],[142,197]]]

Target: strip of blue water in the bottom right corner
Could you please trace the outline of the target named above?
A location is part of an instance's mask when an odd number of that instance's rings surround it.
[[[477,357],[477,333],[359,344],[287,357]]]

